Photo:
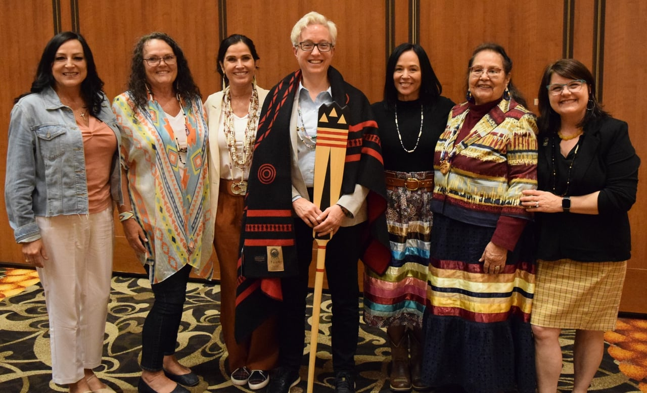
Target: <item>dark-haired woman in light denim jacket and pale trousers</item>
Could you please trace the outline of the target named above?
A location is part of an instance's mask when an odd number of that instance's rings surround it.
[[[71,393],[114,392],[93,372],[110,295],[113,201],[123,199],[120,132],[103,85],[85,39],[57,34],[9,123],[6,209],[45,290],[52,379]]]

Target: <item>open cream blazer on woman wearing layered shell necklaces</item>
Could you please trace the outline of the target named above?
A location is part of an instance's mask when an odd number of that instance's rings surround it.
[[[254,88],[258,93],[258,110],[260,111],[269,90],[261,89],[256,85]],[[204,101],[204,111],[207,112],[209,121],[209,191],[211,195],[211,211],[214,219],[218,211],[218,194],[220,190],[220,149],[218,147],[218,133],[224,132],[219,128],[224,104],[225,94],[223,94],[222,90],[210,95]]]

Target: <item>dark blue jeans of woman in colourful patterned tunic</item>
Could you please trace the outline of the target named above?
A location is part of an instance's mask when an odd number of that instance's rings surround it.
[[[189,273],[191,266],[187,264],[168,279],[152,285],[155,302],[142,330],[141,367],[146,371],[162,370],[164,356],[175,354]]]

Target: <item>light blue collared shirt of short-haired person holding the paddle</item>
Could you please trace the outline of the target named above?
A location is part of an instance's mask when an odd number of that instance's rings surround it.
[[[319,107],[323,104],[333,102],[333,90],[328,87],[327,90],[320,92],[313,101],[310,98],[310,92],[301,82],[299,82],[298,107],[301,109],[301,116],[297,114],[298,127],[305,127],[305,133],[311,138],[317,135],[317,124],[319,117]],[[293,107],[292,111],[298,111],[298,107]],[[314,187],[314,149],[311,149],[298,138],[297,161],[301,169],[301,175],[306,187]]]

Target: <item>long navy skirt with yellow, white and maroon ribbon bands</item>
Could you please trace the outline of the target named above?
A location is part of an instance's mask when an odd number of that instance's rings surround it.
[[[434,216],[422,328],[423,377],[432,387],[535,391],[532,230],[508,252],[501,273],[486,274],[479,259],[494,229]]]

